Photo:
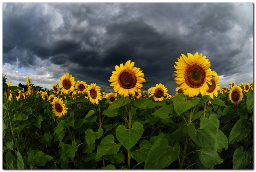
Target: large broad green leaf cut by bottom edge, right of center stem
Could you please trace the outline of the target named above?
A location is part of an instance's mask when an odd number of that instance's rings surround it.
[[[169,166],[180,155],[180,145],[168,145],[168,140],[161,138],[151,147],[145,161],[145,169],[161,169]]]

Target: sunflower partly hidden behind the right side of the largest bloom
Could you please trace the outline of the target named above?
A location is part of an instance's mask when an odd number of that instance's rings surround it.
[[[206,95],[209,95],[212,99],[213,99],[213,95],[218,97],[218,90],[220,90],[220,84],[219,84],[219,79],[220,76],[217,75],[217,73],[213,70],[212,75],[214,77],[212,77],[211,82],[212,85],[208,84],[209,90],[206,91]]]

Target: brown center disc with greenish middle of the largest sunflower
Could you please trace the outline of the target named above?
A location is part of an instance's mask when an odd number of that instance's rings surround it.
[[[185,81],[191,88],[199,88],[203,86],[205,81],[205,71],[201,65],[192,63],[185,69]]]

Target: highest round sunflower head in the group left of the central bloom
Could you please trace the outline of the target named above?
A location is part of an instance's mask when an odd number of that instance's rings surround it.
[[[75,85],[75,77],[69,75],[67,72],[60,78],[59,86],[65,94],[75,91]]]

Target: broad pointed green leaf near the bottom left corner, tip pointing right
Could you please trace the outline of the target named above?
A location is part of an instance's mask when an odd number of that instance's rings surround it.
[[[46,161],[51,161],[53,157],[46,155],[42,151],[38,150],[30,150],[28,151],[28,158],[26,158],[26,161],[28,162],[28,165],[37,165],[37,166],[45,166]]]

